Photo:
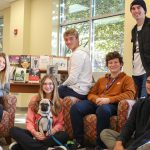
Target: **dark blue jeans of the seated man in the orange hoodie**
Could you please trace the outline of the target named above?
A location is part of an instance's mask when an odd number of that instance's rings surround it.
[[[110,128],[110,117],[117,114],[117,104],[106,104],[98,106],[89,100],[83,100],[74,104],[70,109],[70,117],[73,128],[74,138],[78,143],[84,142],[83,118],[89,114],[96,114],[97,117],[97,144],[105,147],[100,140],[100,132]]]

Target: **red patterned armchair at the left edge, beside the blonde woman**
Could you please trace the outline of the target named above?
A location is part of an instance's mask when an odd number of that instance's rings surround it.
[[[7,144],[11,143],[9,129],[14,126],[17,99],[13,95],[7,95],[4,99],[4,112],[0,122],[0,137],[4,137]]]

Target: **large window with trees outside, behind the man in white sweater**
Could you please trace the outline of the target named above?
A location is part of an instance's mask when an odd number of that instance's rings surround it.
[[[123,52],[124,3],[124,0],[61,0],[59,55],[70,54],[63,33],[76,28],[80,45],[90,49],[93,72],[106,72],[106,54],[114,50]]]

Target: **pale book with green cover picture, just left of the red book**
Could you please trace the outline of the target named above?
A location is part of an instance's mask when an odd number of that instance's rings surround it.
[[[26,80],[26,68],[16,67],[14,73],[14,82],[25,82]]]

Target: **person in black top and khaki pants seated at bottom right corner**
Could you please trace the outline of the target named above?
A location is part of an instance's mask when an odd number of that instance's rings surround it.
[[[120,134],[111,129],[101,132],[100,137],[109,150],[150,150],[150,74],[146,90],[148,96],[133,106]]]

